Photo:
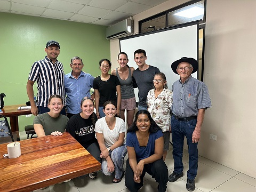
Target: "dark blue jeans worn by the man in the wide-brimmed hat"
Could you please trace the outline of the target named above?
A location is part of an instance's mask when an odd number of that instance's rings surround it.
[[[174,159],[174,172],[181,173],[183,171],[182,155],[184,137],[187,138],[188,154],[189,154],[189,169],[187,172],[188,179],[194,180],[198,168],[198,149],[197,143],[192,143],[192,134],[196,127],[197,119],[190,121],[179,121],[172,115],[172,142],[173,142],[173,159]]]

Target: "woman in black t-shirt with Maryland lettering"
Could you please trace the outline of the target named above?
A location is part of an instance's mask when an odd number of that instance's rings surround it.
[[[101,162],[100,148],[94,131],[98,118],[93,112],[93,104],[91,98],[84,97],[81,101],[81,113],[70,117],[66,129],[98,162]],[[97,172],[89,173],[91,179],[97,175]]]

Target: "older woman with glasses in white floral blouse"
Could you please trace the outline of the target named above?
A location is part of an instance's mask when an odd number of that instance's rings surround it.
[[[164,134],[163,159],[165,160],[170,142],[172,91],[167,89],[167,81],[163,73],[156,74],[153,82],[155,89],[149,90],[147,105],[150,115]]]

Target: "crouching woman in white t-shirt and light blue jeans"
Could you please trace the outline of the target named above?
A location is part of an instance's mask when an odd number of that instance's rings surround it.
[[[127,153],[125,147],[125,124],[123,119],[116,117],[116,103],[106,101],[103,105],[105,117],[95,123],[95,132],[100,145],[102,158],[101,171],[111,175],[115,171],[113,183],[121,182],[124,176],[124,157]]]

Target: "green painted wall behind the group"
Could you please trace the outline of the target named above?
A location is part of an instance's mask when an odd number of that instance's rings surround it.
[[[26,84],[34,61],[45,57],[45,44],[54,39],[60,43],[58,60],[65,74],[70,59],[83,59],[86,73],[100,75],[99,60],[110,59],[110,42],[105,38],[106,26],[65,20],[0,12],[0,93],[5,93],[5,105],[28,101]],[[36,94],[36,83],[34,92]],[[19,116],[19,129],[33,124],[34,117]]]

